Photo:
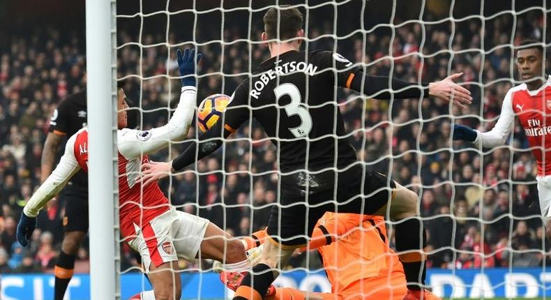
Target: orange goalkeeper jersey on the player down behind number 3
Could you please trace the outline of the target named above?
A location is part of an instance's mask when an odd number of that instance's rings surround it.
[[[388,277],[390,282],[394,272],[404,272],[398,255],[388,246],[384,218],[327,212],[316,227],[328,242],[333,237],[333,243],[317,248],[333,293],[345,292],[368,278]],[[319,238],[312,236],[312,240]]]

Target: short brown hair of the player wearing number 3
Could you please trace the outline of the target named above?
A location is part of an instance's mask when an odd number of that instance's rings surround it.
[[[289,40],[302,29],[303,17],[299,8],[289,5],[273,6],[264,14],[264,31],[268,39]],[[279,36],[278,36],[279,24]]]

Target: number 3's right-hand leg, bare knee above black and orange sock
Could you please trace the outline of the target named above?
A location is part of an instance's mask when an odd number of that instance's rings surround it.
[[[418,218],[418,195],[396,183],[390,202],[379,209],[376,214],[386,216],[387,211],[390,219],[398,222],[395,225],[396,251],[404,266],[407,289],[416,295],[423,294],[421,290],[425,285],[426,276],[423,248],[427,237],[423,221]]]

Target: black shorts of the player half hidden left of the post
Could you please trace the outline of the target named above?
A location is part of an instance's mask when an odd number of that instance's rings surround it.
[[[68,186],[63,192],[63,230],[88,232],[88,190]]]

